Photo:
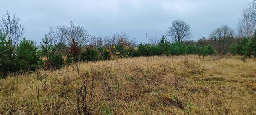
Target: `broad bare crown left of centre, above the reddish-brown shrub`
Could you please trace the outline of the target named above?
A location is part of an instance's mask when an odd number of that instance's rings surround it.
[[[70,26],[57,26],[55,30],[50,28],[48,36],[54,45],[64,43],[70,46],[74,39],[78,48],[84,47],[90,41],[87,30],[81,25],[75,26],[73,22],[70,22]]]

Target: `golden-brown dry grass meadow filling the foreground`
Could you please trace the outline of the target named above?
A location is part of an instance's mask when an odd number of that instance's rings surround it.
[[[150,73],[147,57],[138,57],[1,79],[0,114],[256,115],[253,59],[149,59]]]

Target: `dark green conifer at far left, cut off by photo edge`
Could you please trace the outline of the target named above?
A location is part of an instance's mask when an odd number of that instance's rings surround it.
[[[15,63],[14,46],[6,40],[6,35],[0,30],[0,78],[5,77],[8,72],[14,72]]]

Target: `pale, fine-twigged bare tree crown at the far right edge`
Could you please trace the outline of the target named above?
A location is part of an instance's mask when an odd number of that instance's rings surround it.
[[[237,36],[240,38],[243,38],[243,37],[251,38],[255,29],[256,29],[256,21],[253,18],[252,13],[248,9],[244,10],[243,18],[238,23]]]

